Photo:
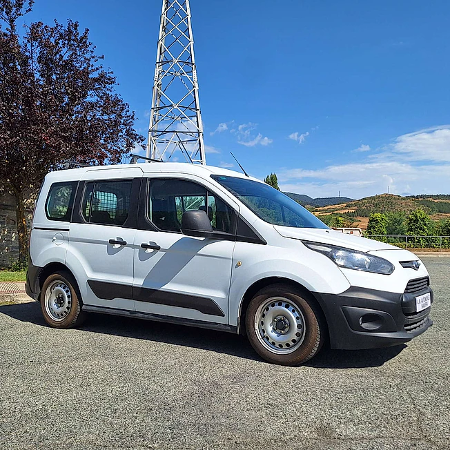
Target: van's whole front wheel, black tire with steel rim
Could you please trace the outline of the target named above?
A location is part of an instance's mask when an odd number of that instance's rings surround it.
[[[276,328],[275,320],[281,323],[282,330]],[[293,336],[294,331],[297,333]],[[253,349],[264,360],[298,366],[319,353],[326,337],[326,324],[310,295],[280,283],[262,288],[248,304],[246,332]]]

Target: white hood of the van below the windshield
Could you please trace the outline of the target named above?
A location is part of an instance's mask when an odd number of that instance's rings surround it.
[[[346,235],[340,231],[324,228],[293,228],[290,226],[274,225],[273,228],[283,237],[291,239],[301,239],[317,244],[330,244],[351,250],[362,251],[364,253],[378,250],[398,250],[398,247],[384,244],[384,242],[374,241],[355,235]]]

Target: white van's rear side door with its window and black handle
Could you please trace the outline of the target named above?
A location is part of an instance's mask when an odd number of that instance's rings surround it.
[[[78,281],[84,304],[133,311],[133,197],[139,195],[142,173],[138,168],[133,173],[129,168],[126,173],[106,172],[92,170],[83,178],[78,219],[70,225],[67,264],[83,274]]]

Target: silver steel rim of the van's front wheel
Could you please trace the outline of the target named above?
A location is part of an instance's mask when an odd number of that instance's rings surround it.
[[[304,341],[304,315],[284,297],[271,297],[262,303],[256,311],[254,327],[262,346],[277,355],[292,353]]]

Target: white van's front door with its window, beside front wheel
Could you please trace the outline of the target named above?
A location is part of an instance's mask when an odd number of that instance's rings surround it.
[[[146,205],[139,214],[145,213],[154,228],[135,235],[136,311],[228,324],[235,242],[185,236],[181,221],[184,211],[202,209],[214,229],[228,233],[233,208],[186,179],[155,178],[144,193]]]

